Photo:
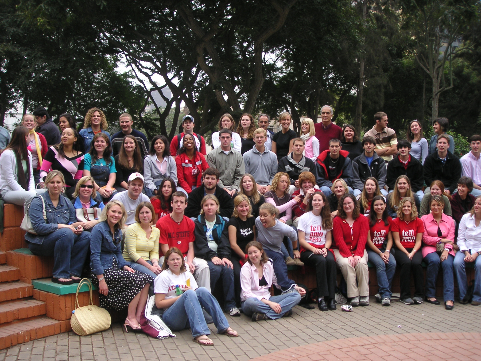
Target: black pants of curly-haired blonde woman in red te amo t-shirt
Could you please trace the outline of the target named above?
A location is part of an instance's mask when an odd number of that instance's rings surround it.
[[[412,248],[406,248],[407,252],[411,252]],[[409,259],[406,254],[399,249],[394,252],[394,258],[396,259],[397,266],[400,269],[399,272],[399,285],[401,286],[401,299],[411,297],[411,271],[414,278],[414,297],[423,297],[423,284],[424,274],[422,271],[422,253],[418,250],[413,256],[413,259]]]

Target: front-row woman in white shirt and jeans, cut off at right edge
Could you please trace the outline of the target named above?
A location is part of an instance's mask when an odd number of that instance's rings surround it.
[[[468,278],[466,276],[466,264],[474,264],[474,291],[471,305],[481,305],[481,195],[474,199],[473,209],[466,213],[459,223],[457,245],[459,252],[454,258],[457,285],[459,287],[459,303],[465,305],[468,291]]]

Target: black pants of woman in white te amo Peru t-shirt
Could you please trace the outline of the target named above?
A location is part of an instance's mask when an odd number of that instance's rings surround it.
[[[301,253],[301,261],[308,266],[316,267],[317,297],[334,298],[337,269],[332,252],[328,251],[324,257],[311,251],[304,251]]]

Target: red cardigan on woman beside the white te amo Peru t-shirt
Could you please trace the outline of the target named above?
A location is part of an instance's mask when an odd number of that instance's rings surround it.
[[[339,249],[342,257],[359,256],[363,257],[366,249],[367,232],[369,232],[369,221],[362,214],[354,220],[353,231],[345,219],[335,217],[332,224],[334,245],[332,248]]]

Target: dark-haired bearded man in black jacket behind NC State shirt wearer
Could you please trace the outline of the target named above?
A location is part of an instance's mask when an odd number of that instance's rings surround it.
[[[216,168],[207,168],[204,170],[202,177],[202,185],[195,188],[189,194],[185,215],[190,218],[197,218],[199,214],[201,214],[202,198],[207,194],[214,194],[219,201],[220,216],[227,218],[232,217],[234,202],[232,201],[230,194],[227,193],[224,188],[217,185],[220,177],[219,171]]]

